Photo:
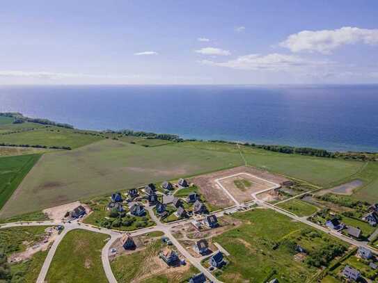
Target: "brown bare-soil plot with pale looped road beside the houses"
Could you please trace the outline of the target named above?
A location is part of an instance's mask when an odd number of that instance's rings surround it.
[[[241,175],[230,177],[237,174]],[[213,172],[210,174],[194,177],[190,181],[198,186],[198,188],[200,188],[200,193],[205,196],[207,202],[224,208],[233,206],[234,202],[230,200],[230,197],[228,197],[223,189],[218,184],[216,184],[216,179],[221,179],[220,181],[223,187],[225,187],[228,192],[233,195],[233,197],[235,197],[235,199],[239,202],[251,200],[251,193],[256,193],[273,186],[273,184],[254,178],[251,175],[266,179],[267,181],[271,181],[275,184],[280,184],[283,181],[288,181],[288,179],[281,177],[280,175],[275,175],[271,172],[250,166],[240,166],[237,168]],[[251,183],[251,186],[244,186],[244,189],[237,188],[237,185],[234,183],[234,181],[237,180],[249,181],[249,183]]]

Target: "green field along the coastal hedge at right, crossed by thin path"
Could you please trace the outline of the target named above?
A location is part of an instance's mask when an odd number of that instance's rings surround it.
[[[175,146],[239,154],[239,149],[235,145],[223,143],[186,142],[175,144]],[[253,147],[240,148],[248,165],[303,179],[319,186],[326,186],[327,184],[342,181],[359,172],[360,168],[365,164],[359,161],[268,152]]]

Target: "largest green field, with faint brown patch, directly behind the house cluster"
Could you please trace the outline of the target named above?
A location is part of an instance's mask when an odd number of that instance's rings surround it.
[[[0,216],[7,218],[81,198],[150,182],[178,179],[242,163],[239,154],[162,145],[141,147],[102,140],[79,149],[45,154]]]

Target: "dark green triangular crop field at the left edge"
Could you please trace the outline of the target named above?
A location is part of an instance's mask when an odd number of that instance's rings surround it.
[[[0,209],[38,159],[40,154],[0,157]]]

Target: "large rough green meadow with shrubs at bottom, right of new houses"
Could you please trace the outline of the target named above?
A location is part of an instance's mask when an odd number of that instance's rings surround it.
[[[223,282],[267,282],[272,277],[279,282],[305,282],[319,270],[310,264],[317,260],[310,259],[322,259],[318,253],[329,251],[332,244],[347,247],[345,243],[275,211],[255,209],[233,216],[244,224],[212,238],[230,252],[228,264],[219,274]],[[305,262],[294,259],[297,244],[309,254]],[[331,260],[329,258],[328,262]]]

